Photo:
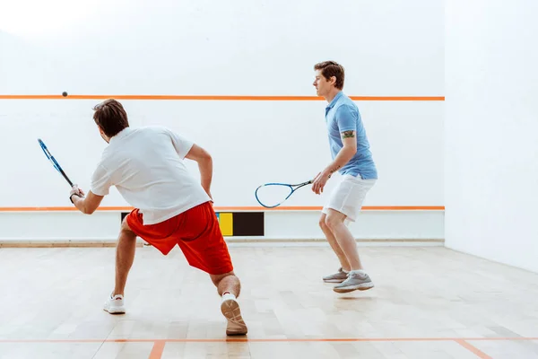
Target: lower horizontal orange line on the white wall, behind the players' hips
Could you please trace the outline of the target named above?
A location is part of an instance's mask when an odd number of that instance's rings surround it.
[[[282,206],[265,208],[263,206],[214,206],[216,212],[223,211],[321,211],[321,206]],[[101,206],[98,211],[130,212],[128,206]],[[364,211],[444,211],[445,206],[362,206]],[[60,212],[78,211],[74,206],[46,207],[0,207],[0,212]]]

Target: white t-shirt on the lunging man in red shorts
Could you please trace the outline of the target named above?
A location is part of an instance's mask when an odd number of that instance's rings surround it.
[[[91,192],[116,186],[144,224],[161,223],[211,198],[183,162],[193,143],[166,127],[126,127],[110,138],[91,178]]]

